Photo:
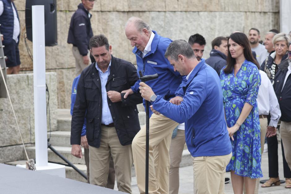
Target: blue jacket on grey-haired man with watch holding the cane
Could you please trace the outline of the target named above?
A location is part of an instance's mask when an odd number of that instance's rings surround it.
[[[193,157],[221,156],[232,152],[224,119],[222,89],[217,72],[202,59],[183,87],[180,105],[158,95],[154,110],[178,122],[185,122],[185,138]]]

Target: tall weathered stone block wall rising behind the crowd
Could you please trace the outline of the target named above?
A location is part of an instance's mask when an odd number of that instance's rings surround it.
[[[57,0],[58,45],[46,47],[46,69],[58,77],[58,107],[70,108],[71,85],[75,76],[75,59],[67,34],[72,14],[80,0]],[[31,71],[23,33],[25,32],[25,0],[15,1],[20,15],[21,70]],[[204,58],[209,57],[211,41],[217,36],[228,36],[233,31],[248,33],[252,27],[263,34],[279,29],[279,0],[97,0],[92,14],[93,33],[103,33],[112,45],[113,54],[136,63],[132,47],[125,37],[124,25],[131,16],[148,22],[160,35],[188,40],[194,33],[206,39]],[[30,50],[32,43],[28,41]]]

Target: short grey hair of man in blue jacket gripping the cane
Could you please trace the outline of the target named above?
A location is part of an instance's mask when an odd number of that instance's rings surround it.
[[[182,39],[171,42],[166,50],[165,57],[170,57],[171,59],[177,61],[179,54],[186,58],[196,58],[192,47],[187,41]]]

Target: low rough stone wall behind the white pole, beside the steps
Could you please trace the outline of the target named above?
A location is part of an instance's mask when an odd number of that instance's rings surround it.
[[[47,131],[50,128],[55,131],[57,130],[57,74],[46,73],[46,83],[50,93],[50,125],[48,116]],[[7,87],[24,144],[30,145],[35,142],[33,74],[7,75]],[[22,141],[8,98],[0,98],[0,134],[0,163],[22,159]]]

